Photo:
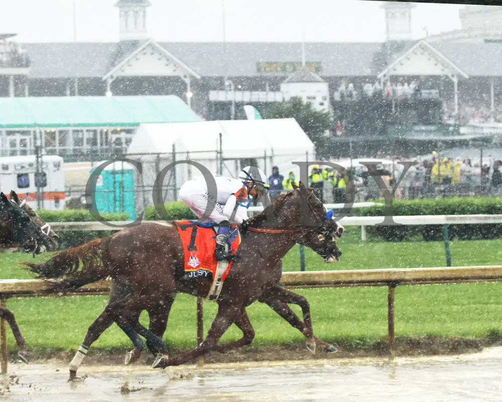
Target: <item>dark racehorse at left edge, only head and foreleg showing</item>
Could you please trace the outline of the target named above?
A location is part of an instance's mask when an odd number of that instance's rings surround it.
[[[0,248],[19,247],[27,253],[39,254],[43,253],[50,246],[54,246],[54,240],[50,240],[41,228],[45,222],[27,204],[23,206],[24,208],[21,208],[17,204],[19,198],[14,191],[11,191],[11,198],[13,194],[15,194],[17,201],[11,201],[3,192],[0,193]],[[40,220],[37,220],[37,222],[42,222],[41,225],[32,222],[29,215],[25,212],[28,208]],[[57,246],[57,242],[55,244]],[[18,356],[25,363],[28,363],[26,342],[14,314],[7,308],[0,307],[0,318],[5,318],[9,323],[19,347]]]

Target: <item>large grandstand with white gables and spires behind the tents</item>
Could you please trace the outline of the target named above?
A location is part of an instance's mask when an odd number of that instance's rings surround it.
[[[292,96],[333,110],[344,102],[341,87],[361,94],[375,82],[383,89],[415,80],[457,122],[477,103],[491,121],[502,118],[501,8],[467,6],[461,30],[413,41],[413,4],[387,3],[385,43],[301,44],[157,42],[148,35],[148,0],[115,6],[118,43],[18,44],[13,34],[0,36],[0,96],[177,95],[200,118],[225,120],[245,118],[247,103],[260,108]]]

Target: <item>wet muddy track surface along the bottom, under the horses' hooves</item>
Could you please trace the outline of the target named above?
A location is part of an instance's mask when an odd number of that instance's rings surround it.
[[[1,400],[18,401],[486,401],[502,394],[502,348],[470,355],[195,365],[11,364]],[[129,390],[129,391],[128,391]]]

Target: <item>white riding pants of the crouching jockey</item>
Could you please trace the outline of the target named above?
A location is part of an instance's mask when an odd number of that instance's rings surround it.
[[[214,198],[210,199],[211,195],[208,194],[207,190],[202,190],[196,182],[187,181],[180,188],[180,198],[199,218],[202,218],[208,205],[211,206],[214,203],[214,208],[210,210],[209,215],[206,214],[204,222],[218,224],[221,221],[228,220],[223,214],[223,205],[217,203]]]

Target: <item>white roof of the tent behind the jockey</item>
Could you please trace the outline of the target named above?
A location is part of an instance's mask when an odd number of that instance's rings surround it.
[[[219,135],[225,158],[259,157],[267,152],[305,154],[314,152],[314,144],[295,119],[218,120],[193,123],[141,124],[128,149],[135,153],[201,152],[214,157]],[[198,159],[196,154],[190,155]]]

